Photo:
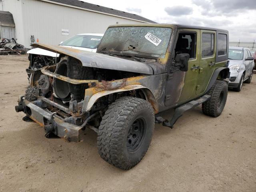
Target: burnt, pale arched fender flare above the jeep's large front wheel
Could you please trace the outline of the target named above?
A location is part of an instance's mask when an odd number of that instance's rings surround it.
[[[134,85],[127,85],[124,86],[123,88],[120,89],[116,89],[116,90],[102,90],[98,93],[93,94],[87,105],[86,105],[86,110],[85,111],[90,111],[92,106],[94,105],[94,103],[101,98],[102,96],[106,96],[112,93],[116,93],[116,92],[125,92],[125,91],[130,91],[130,90],[137,90],[137,89],[141,89],[142,92],[144,93],[146,100],[148,102],[150,102],[150,104],[152,105],[153,109],[154,109],[154,113],[157,114],[158,113],[158,103],[157,100],[154,96],[154,94],[151,92],[150,89],[140,85],[140,84],[134,84]]]

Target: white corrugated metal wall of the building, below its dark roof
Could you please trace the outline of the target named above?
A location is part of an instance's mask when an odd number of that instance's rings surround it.
[[[30,36],[34,35],[35,42],[44,44],[59,44],[60,42],[79,33],[104,33],[109,25],[140,23],[134,20],[109,16],[96,12],[70,8],[39,0],[6,0],[6,2],[20,2],[21,10],[16,12],[15,8],[4,7],[14,16],[17,25],[22,18],[23,36],[19,35],[22,27],[16,26],[18,42],[30,48]],[[5,3],[4,2],[4,6]],[[21,14],[22,12],[22,14]],[[20,18],[18,18],[20,17]],[[18,21],[19,20],[19,21]],[[18,22],[17,22],[18,21]],[[19,25],[19,24],[18,24]],[[69,30],[69,36],[61,33],[62,29]]]

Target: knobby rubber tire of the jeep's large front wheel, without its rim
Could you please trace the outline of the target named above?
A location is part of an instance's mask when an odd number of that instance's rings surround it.
[[[132,118],[134,112],[147,108],[152,114],[152,121],[154,125],[154,110],[149,102],[140,98],[131,96],[122,97],[109,105],[105,112],[98,129],[97,145],[98,152],[106,162],[123,170],[128,170],[140,162],[146,154],[142,154],[140,160],[134,164],[126,162],[122,150],[122,140],[126,140],[125,132],[127,122]],[[154,130],[154,126],[153,126]],[[152,132],[153,132],[152,130]],[[150,141],[152,135],[150,137]]]

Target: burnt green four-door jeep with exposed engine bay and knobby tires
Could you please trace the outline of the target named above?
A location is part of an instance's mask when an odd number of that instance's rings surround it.
[[[33,44],[60,54],[20,96],[16,112],[44,127],[46,138],[82,141],[98,133],[100,156],[128,170],[145,155],[154,124],[170,128],[202,104],[217,117],[228,94],[228,31],[178,24],[110,26],[97,53]],[[166,120],[159,112],[174,108]]]

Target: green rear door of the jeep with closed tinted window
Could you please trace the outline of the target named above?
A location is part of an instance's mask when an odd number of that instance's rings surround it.
[[[206,90],[208,82],[212,77],[215,68],[216,58],[216,31],[200,30],[201,32],[201,54],[196,83],[196,94]]]

